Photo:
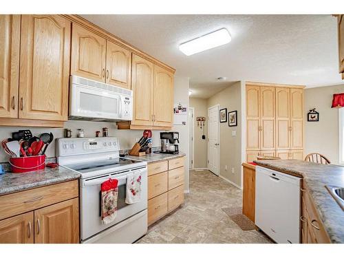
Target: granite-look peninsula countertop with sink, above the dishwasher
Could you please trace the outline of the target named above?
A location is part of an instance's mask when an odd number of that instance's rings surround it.
[[[305,180],[332,243],[344,243],[344,211],[325,185],[344,187],[344,167],[302,160],[255,160],[255,163]]]

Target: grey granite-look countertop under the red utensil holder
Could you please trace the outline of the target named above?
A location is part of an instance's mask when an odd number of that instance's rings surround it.
[[[57,184],[80,178],[80,174],[62,166],[55,169],[45,167],[39,171],[25,173],[5,172],[0,175],[0,195],[33,189],[39,186]]]

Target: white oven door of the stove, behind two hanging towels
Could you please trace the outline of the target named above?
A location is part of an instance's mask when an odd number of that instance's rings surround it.
[[[133,170],[135,171],[135,170]],[[140,169],[142,175],[141,201],[135,204],[126,204],[127,174],[125,171],[116,175],[88,178],[80,182],[80,232],[81,240],[85,240],[106,228],[114,226],[140,211],[147,209],[147,167]],[[100,184],[109,178],[118,180],[117,216],[111,224],[103,224],[100,217]]]

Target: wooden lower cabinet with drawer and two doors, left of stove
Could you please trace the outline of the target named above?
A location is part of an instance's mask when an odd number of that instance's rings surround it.
[[[0,206],[0,244],[79,243],[78,180],[1,195]]]

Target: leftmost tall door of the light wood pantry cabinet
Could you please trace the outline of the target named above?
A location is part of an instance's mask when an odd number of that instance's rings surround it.
[[[246,86],[246,150],[258,151],[259,139],[259,87]]]

